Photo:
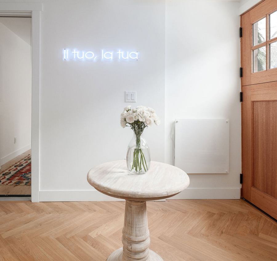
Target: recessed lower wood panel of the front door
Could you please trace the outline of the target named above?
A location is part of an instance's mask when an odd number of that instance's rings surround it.
[[[252,185],[277,198],[277,101],[253,102]]]

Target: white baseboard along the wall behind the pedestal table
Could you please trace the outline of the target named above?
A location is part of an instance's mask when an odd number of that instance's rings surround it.
[[[240,199],[240,188],[187,188],[168,199]],[[97,190],[40,191],[40,202],[54,201],[123,201]],[[164,200],[162,200],[164,201]]]

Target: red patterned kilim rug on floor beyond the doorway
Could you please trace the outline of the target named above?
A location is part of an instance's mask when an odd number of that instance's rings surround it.
[[[31,155],[1,172],[0,185],[31,185]]]

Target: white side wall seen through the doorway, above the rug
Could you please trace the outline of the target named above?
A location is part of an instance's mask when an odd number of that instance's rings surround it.
[[[24,19],[29,19],[31,30],[30,18]],[[0,35],[2,165],[31,148],[31,47],[2,23]],[[17,137],[16,144],[14,137]]]

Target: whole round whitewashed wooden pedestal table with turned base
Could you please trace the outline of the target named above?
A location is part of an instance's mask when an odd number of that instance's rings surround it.
[[[123,247],[114,251],[107,261],[163,261],[148,248],[146,201],[169,198],[183,191],[190,184],[187,173],[172,165],[151,161],[146,173],[133,174],[127,169],[126,161],[119,160],[92,168],[87,180],[99,192],[126,200]]]

